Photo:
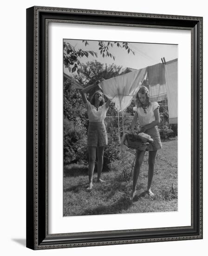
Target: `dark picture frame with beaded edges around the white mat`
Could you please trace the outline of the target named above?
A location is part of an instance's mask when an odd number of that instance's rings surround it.
[[[47,26],[50,21],[191,30],[191,226],[48,234]],[[26,10],[26,23],[26,246],[52,249],[202,239],[202,17],[31,7]]]

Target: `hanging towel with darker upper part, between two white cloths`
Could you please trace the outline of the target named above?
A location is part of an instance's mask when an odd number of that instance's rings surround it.
[[[147,67],[149,80],[150,101],[163,101],[167,99],[165,86],[165,69],[163,63]]]

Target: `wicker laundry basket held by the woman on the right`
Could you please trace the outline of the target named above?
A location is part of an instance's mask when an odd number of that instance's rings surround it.
[[[137,149],[140,151],[144,151],[147,149],[149,144],[153,141],[153,139],[145,138],[141,135],[134,135],[134,134],[125,134],[123,139],[123,144],[126,145],[128,148]]]

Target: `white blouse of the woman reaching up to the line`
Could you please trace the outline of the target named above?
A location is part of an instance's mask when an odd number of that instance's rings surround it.
[[[108,108],[106,108],[106,103],[104,103],[102,106],[97,108],[92,105],[89,101],[87,103],[84,103],[85,108],[87,109],[87,115],[90,122],[103,122],[106,113],[108,111]]]

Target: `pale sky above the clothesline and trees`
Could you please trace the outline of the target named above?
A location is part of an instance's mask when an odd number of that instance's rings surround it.
[[[89,45],[85,47],[82,40],[69,40],[65,39],[64,42],[70,43],[75,50],[82,49],[85,51],[94,51],[97,53],[97,58],[91,56],[82,57],[79,59],[81,63],[86,63],[87,61],[97,60],[103,64],[116,64],[122,66],[124,69],[126,67],[140,69],[143,67],[148,67],[157,63],[161,63],[161,58],[164,57],[166,61],[176,59],[178,57],[178,46],[171,44],[153,44],[153,43],[135,43],[129,42],[129,47],[135,52],[129,53],[121,47],[117,47],[116,44],[109,48],[109,52],[115,56],[115,61],[109,57],[102,57],[100,51],[98,50],[98,41],[88,40]],[[64,67],[64,72],[69,74],[67,68]]]

